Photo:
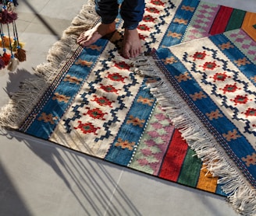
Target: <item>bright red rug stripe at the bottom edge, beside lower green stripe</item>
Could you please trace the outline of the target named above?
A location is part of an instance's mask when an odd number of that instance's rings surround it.
[[[186,141],[181,138],[180,132],[175,130],[172,136],[172,141],[169,145],[169,149],[162,163],[159,177],[174,182],[177,181],[180,175],[180,169],[187,154],[187,148],[188,146]]]

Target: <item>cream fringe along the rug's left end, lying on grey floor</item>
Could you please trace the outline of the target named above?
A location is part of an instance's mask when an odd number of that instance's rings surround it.
[[[59,70],[66,64],[66,59],[72,57],[73,52],[79,47],[76,38],[97,22],[98,15],[94,10],[94,1],[90,0],[73,19],[71,26],[63,32],[62,38],[53,44],[48,52],[47,61],[37,65],[34,69],[37,78],[22,82],[20,90],[12,93],[9,103],[1,108],[0,127],[19,128],[27,113],[30,113],[37,104],[39,96],[48,89],[56,75],[59,74]]]

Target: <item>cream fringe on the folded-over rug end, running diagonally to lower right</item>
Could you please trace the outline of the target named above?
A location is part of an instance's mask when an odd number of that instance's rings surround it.
[[[256,214],[256,190],[239,169],[235,169],[228,156],[218,145],[197,116],[187,106],[187,103],[176,92],[176,89],[166,80],[153,57],[139,57],[133,62],[132,70],[138,75],[160,78],[158,82],[148,84],[152,94],[157,98],[162,109],[169,115],[172,123],[179,129],[199,159],[201,159],[213,176],[219,176],[222,190],[229,194],[229,203],[242,215]]]

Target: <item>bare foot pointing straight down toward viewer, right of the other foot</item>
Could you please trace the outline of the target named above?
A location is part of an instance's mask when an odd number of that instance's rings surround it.
[[[123,57],[137,57],[141,53],[140,37],[135,30],[125,30],[123,37]]]

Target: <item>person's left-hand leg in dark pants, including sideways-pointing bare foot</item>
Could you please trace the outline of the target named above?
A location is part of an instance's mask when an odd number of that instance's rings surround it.
[[[101,23],[98,23],[91,30],[80,34],[77,43],[83,47],[94,44],[98,39],[116,30],[115,19],[118,14],[117,0],[95,0],[95,9],[101,16]]]

